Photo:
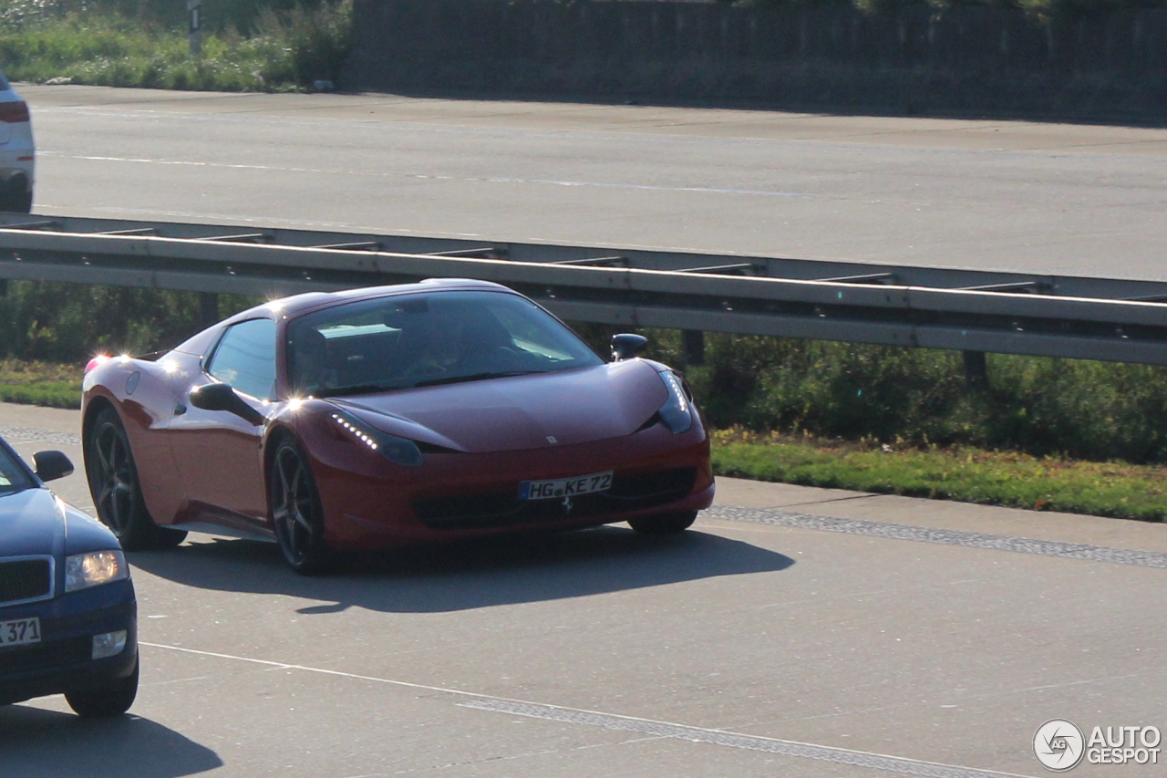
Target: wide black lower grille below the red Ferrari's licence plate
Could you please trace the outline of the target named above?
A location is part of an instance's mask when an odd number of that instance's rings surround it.
[[[518,485],[506,492],[484,492],[417,500],[413,513],[432,529],[488,529],[518,525],[589,519],[668,505],[689,494],[697,480],[696,467],[647,473],[616,473],[612,488],[564,500],[519,500]]]

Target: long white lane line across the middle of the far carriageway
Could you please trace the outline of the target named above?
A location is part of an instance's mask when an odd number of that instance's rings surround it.
[[[138,157],[92,157],[84,154],[64,154],[61,152],[41,151],[42,157],[61,159],[78,159],[93,162],[133,162],[140,165],[177,165],[184,167],[217,167],[242,171],[273,171],[277,173],[313,173],[323,175],[363,175],[382,179],[413,179],[419,181],[461,181],[464,183],[536,183],[557,187],[598,187],[603,189],[638,189],[650,192],[692,192],[697,194],[734,194],[760,195],[767,197],[810,197],[801,192],[776,192],[770,189],[734,189],[720,187],[665,187],[648,183],[615,183],[608,181],[569,181],[557,179],[515,179],[495,176],[459,176],[427,173],[380,173],[377,171],[343,171],[335,168],[284,167],[277,165],[239,165],[235,162],[200,162],[189,160],[148,159]]]

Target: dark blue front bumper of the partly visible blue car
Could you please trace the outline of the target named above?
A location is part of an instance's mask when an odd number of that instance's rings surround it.
[[[41,619],[41,642],[0,648],[0,704],[98,688],[138,666],[138,612],[128,581],[0,609],[0,621],[33,616]],[[93,660],[93,635],[118,630],[127,633],[125,650]]]

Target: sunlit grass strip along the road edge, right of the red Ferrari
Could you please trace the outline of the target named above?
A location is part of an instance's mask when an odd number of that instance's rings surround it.
[[[890,446],[888,447],[890,449]],[[1167,467],[973,447],[885,450],[720,431],[718,475],[1117,519],[1167,517]]]

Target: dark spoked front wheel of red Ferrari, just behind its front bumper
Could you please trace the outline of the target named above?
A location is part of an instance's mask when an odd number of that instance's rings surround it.
[[[335,557],[324,542],[324,512],[316,479],[291,439],[281,440],[272,456],[268,498],[275,540],[292,569],[302,576],[330,570]]]

